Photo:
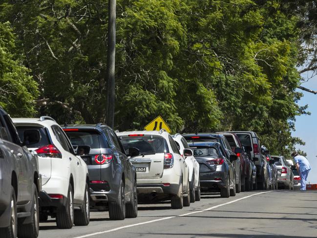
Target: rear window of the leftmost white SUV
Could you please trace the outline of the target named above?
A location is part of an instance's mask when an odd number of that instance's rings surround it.
[[[47,146],[49,144],[51,144],[49,142],[49,138],[46,132],[45,128],[42,127],[36,127],[36,126],[16,126],[16,129],[18,131],[19,137],[21,139],[21,141],[23,141],[23,139],[25,140],[25,146],[27,148],[41,148],[43,146]],[[40,141],[38,143],[35,144],[29,144],[29,140],[32,141],[31,138],[23,138],[24,137],[24,131],[25,130],[38,130],[39,134],[40,134]],[[28,136],[32,136],[32,133],[29,133]],[[33,140],[34,141],[34,140]]]

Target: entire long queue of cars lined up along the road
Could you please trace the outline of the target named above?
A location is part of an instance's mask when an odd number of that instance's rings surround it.
[[[21,141],[22,139],[22,141]],[[13,118],[0,108],[0,237],[36,238],[39,221],[89,224],[90,209],[112,220],[138,215],[138,202],[181,209],[201,192],[221,197],[293,189],[298,174],[252,131],[170,135],[60,126],[51,117]]]

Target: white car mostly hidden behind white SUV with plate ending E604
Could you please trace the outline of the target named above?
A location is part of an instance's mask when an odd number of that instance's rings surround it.
[[[200,201],[199,163],[193,155],[187,157],[184,156],[183,151],[185,149],[190,149],[190,146],[181,134],[177,133],[173,135],[173,139],[189,167],[190,202]]]

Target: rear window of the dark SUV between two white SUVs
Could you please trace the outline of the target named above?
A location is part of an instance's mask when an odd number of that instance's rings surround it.
[[[72,146],[86,145],[90,146],[91,149],[108,147],[105,143],[100,143],[100,141],[103,142],[103,139],[101,138],[100,133],[96,130],[64,131]]]

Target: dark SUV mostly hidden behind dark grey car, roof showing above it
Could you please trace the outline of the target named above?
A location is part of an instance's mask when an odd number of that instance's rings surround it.
[[[195,133],[195,134],[186,134],[183,135],[184,138],[187,140],[188,144],[195,144],[195,143],[204,143],[204,142],[218,142],[222,148],[224,149],[224,154],[226,155],[226,158],[230,158],[231,155],[236,155],[234,152],[232,152],[231,146],[223,134],[215,134],[215,133]],[[235,151],[238,152],[238,151]],[[240,151],[243,152],[243,151]],[[241,192],[241,161],[239,159],[236,159],[232,161],[232,165],[234,168],[234,174],[235,174],[235,189],[237,193]]]

